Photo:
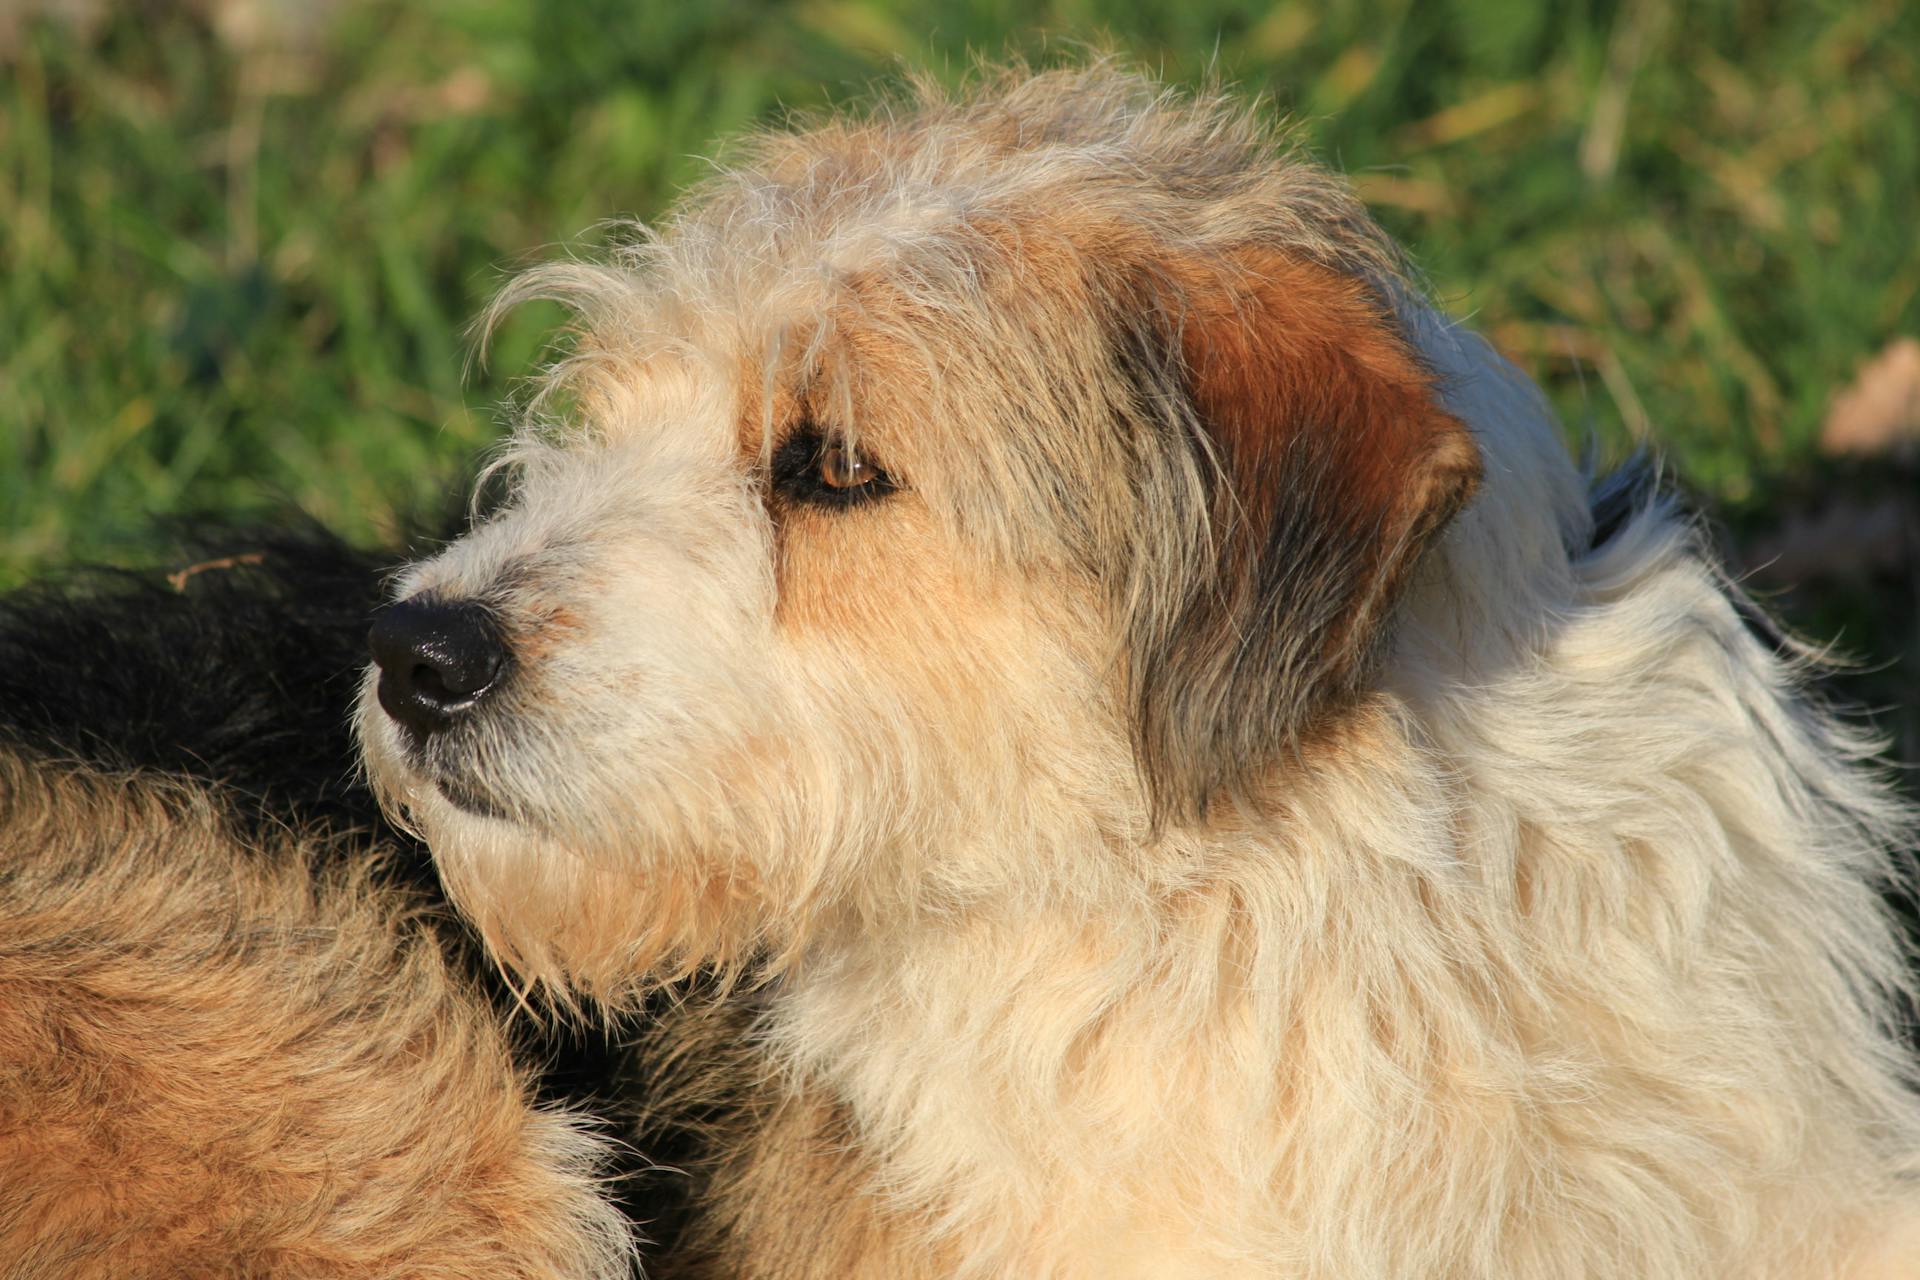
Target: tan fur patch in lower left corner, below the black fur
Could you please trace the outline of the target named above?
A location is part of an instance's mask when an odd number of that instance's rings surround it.
[[[0,754],[0,1274],[626,1274],[432,925],[207,794]]]

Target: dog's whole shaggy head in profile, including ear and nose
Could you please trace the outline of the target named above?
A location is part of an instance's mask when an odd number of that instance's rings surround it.
[[[1473,491],[1382,267],[1119,79],[764,144],[526,286],[586,336],[374,628],[374,783],[603,994],[1137,871],[1338,723]]]

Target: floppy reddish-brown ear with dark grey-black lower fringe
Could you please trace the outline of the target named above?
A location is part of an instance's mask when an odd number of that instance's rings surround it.
[[[1238,793],[1365,689],[1480,455],[1365,282],[1275,251],[1156,265],[1133,328],[1181,416],[1206,545],[1129,604],[1135,748],[1162,819]]]

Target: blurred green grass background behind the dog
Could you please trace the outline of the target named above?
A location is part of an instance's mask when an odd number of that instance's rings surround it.
[[[0,583],[175,512],[392,537],[555,320],[463,378],[505,269],[783,107],[1092,42],[1300,117],[1576,441],[1655,445],[1759,585],[1797,566],[1788,612],[1884,664],[1851,691],[1920,760],[1912,449],[1822,445],[1920,334],[1908,0],[0,6]]]

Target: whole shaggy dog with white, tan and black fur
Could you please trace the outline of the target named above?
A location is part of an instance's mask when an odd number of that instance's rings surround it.
[[[1254,115],[927,90],[528,296],[357,691],[365,564],[10,624],[0,1247],[618,1270],[444,887],[664,1274],[1920,1270],[1870,743]]]

